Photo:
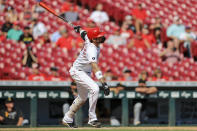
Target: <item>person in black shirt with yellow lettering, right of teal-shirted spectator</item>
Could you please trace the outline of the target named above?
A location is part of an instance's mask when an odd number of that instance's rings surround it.
[[[19,42],[22,42],[23,44],[31,44],[34,41],[34,38],[31,34],[30,27],[26,26],[24,28],[24,33],[20,36]]]

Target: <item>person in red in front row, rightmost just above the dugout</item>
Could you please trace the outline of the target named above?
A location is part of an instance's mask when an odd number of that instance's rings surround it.
[[[152,81],[166,81],[166,80],[168,80],[168,78],[163,75],[161,69],[158,68],[154,71]]]

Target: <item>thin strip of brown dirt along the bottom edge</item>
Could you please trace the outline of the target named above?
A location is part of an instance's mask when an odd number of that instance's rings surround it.
[[[77,128],[43,127],[43,128],[0,128],[0,131],[197,131],[197,127],[103,127],[103,128]]]

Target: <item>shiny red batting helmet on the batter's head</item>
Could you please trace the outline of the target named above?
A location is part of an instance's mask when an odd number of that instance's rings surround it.
[[[92,40],[94,38],[103,37],[104,34],[105,34],[105,32],[101,32],[98,27],[95,27],[95,28],[87,28],[85,30],[87,31],[87,35],[88,35],[88,38],[90,40]]]

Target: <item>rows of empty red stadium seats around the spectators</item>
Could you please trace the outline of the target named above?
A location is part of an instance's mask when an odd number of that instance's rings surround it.
[[[78,1],[79,0],[75,0],[75,2]],[[29,2],[31,5],[35,4],[35,0],[29,0]],[[45,0],[45,2],[57,10],[60,9],[62,4],[61,0]],[[114,17],[117,22],[129,14],[137,2],[142,2],[148,11],[149,22],[151,22],[152,18],[161,16],[163,22],[169,25],[172,23],[173,16],[178,15],[186,25],[197,28],[197,6],[193,6],[197,5],[196,0],[165,0],[165,3],[164,0],[113,0],[113,2],[112,0],[81,0],[84,6],[82,6],[83,8],[79,8],[80,21],[76,24],[85,26],[87,17],[90,15],[90,12],[84,8],[85,5],[89,5],[89,7],[93,9],[99,2],[107,5],[105,11]],[[11,1],[8,1],[8,3],[12,4],[17,12],[23,11],[24,1],[14,0],[14,3]],[[111,10],[112,8],[113,10]],[[2,16],[3,14],[1,14],[1,17]],[[69,34],[73,37],[77,37],[77,34],[71,27],[49,13],[43,13],[39,16],[39,20],[47,25],[49,33],[57,31],[60,25],[65,25],[65,28],[69,30]],[[3,20],[1,19],[1,23],[2,22]],[[102,27],[108,34],[111,34],[118,25],[114,22],[108,22]],[[196,47],[197,44],[193,44],[193,46]],[[184,58],[181,62],[171,65],[162,62],[158,55],[158,48],[157,45],[153,45],[151,50],[142,51],[136,48],[127,49],[125,46],[116,47],[104,44],[99,59],[100,66],[104,71],[110,68],[117,76],[121,76],[122,70],[127,67],[132,70],[134,78],[137,78],[142,70],[147,70],[150,75],[152,75],[153,70],[160,67],[164,75],[169,77],[169,80],[197,80],[197,63],[194,62],[193,59]],[[26,80],[27,76],[31,74],[31,69],[22,67],[21,65],[22,52],[24,52],[24,49],[25,47],[11,40],[0,43],[0,78]],[[62,49],[54,48],[50,44],[39,47],[37,46],[37,42],[35,42],[33,52],[38,57],[41,72],[48,74],[51,66],[57,66],[60,69],[60,75],[64,77],[65,80],[69,80],[68,69],[76,58],[79,49],[64,52]],[[197,54],[197,50],[194,49],[193,54]]]

